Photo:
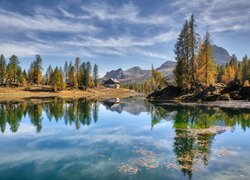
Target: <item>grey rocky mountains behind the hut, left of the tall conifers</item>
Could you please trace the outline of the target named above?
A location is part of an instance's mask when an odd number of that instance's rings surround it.
[[[172,71],[176,65],[174,61],[166,61],[160,67],[156,68],[156,70],[162,72],[167,76],[167,78],[172,78]],[[103,80],[107,80],[109,78],[118,79],[122,83],[143,83],[148,78],[151,77],[151,70],[143,70],[138,66],[132,67],[128,70],[123,71],[121,68],[117,70],[112,70],[107,72],[103,77]]]

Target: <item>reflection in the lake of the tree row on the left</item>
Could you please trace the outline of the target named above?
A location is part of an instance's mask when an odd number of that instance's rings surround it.
[[[43,112],[49,121],[54,119],[58,122],[64,119],[66,125],[74,124],[76,129],[79,129],[81,125],[90,125],[92,119],[95,123],[98,121],[98,109],[99,103],[97,101],[86,99],[3,102],[0,104],[1,132],[5,132],[7,124],[10,126],[11,132],[17,132],[22,118],[26,115],[36,127],[37,132],[40,132]]]

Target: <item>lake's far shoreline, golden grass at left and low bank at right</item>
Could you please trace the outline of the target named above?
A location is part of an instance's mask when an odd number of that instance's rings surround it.
[[[25,88],[7,88],[0,87],[0,102],[6,101],[22,101],[29,99],[47,99],[47,98],[61,98],[61,99],[95,99],[107,100],[112,98],[128,98],[140,95],[135,91],[119,88],[97,88],[88,90],[63,90],[60,92],[43,91],[41,87],[32,87],[31,90]],[[247,100],[217,100],[217,101],[178,101],[178,100],[160,100],[147,99],[150,103],[155,105],[176,105],[176,106],[197,106],[197,107],[219,107],[231,109],[250,109],[250,101]]]

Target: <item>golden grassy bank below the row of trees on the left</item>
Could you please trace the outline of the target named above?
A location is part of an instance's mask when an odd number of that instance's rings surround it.
[[[18,101],[27,98],[52,98],[58,97],[63,99],[110,99],[125,98],[135,96],[136,93],[129,89],[114,88],[95,88],[88,90],[67,89],[59,92],[53,92],[46,86],[34,87],[0,87],[0,101]]]

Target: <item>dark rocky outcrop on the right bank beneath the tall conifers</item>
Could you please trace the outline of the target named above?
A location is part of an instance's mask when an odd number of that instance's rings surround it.
[[[231,81],[227,85],[215,84],[209,86],[196,82],[187,88],[171,85],[150,94],[148,98],[183,101],[250,100],[250,87],[243,87],[237,80]]]

